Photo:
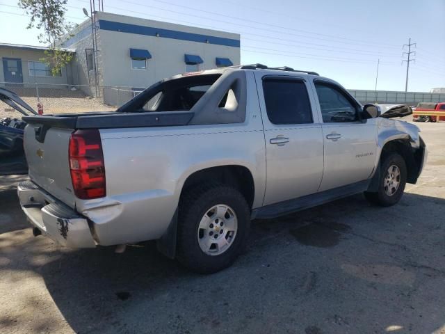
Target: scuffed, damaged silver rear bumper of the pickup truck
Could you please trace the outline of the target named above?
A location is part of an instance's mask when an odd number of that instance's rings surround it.
[[[19,183],[20,206],[30,223],[62,246],[94,248],[88,220],[31,181]]]

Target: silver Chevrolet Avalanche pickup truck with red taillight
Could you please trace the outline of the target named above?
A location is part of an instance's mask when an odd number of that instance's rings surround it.
[[[62,245],[157,240],[210,273],[241,253],[252,218],[359,192],[396,204],[426,159],[419,129],[389,119],[410,112],[289,67],[181,74],[113,112],[24,117],[18,196],[34,233]]]

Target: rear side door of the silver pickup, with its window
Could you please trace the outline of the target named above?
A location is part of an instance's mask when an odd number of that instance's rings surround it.
[[[323,133],[311,86],[289,75],[255,77],[266,140],[264,205],[316,193],[323,175]]]

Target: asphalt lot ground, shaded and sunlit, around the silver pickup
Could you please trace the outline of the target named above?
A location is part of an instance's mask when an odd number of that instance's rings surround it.
[[[153,243],[69,250],[33,237],[0,190],[0,333],[445,333],[445,123],[388,208],[362,195],[254,221],[245,255],[209,276]],[[442,173],[441,173],[442,172]]]

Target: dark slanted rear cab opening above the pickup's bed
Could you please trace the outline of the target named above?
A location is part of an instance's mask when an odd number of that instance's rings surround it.
[[[143,111],[189,111],[221,74],[182,77],[156,84],[143,93]],[[139,97],[142,98],[142,97]]]

